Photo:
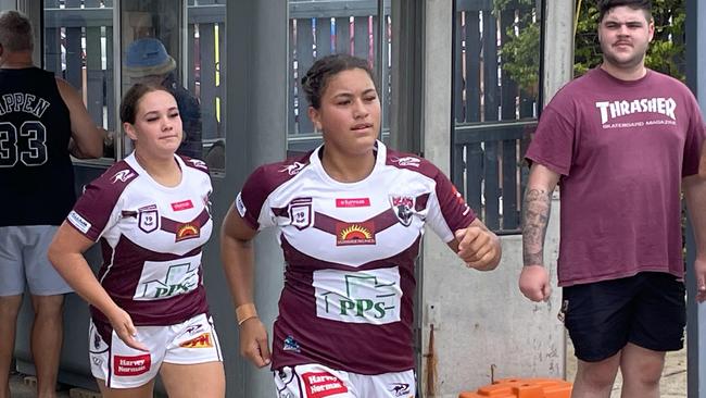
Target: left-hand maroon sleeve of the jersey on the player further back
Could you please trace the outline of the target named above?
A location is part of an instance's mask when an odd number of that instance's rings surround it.
[[[109,188],[96,182],[89,184],[66,216],[70,225],[93,241],[117,222],[117,198]]]

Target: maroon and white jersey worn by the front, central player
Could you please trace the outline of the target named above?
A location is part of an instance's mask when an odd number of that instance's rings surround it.
[[[378,141],[370,175],[344,184],[326,174],[320,151],[261,166],[236,200],[253,228],[279,229],[286,269],[273,368],[413,369],[414,261],[424,226],[451,241],[475,213],[421,158]]]

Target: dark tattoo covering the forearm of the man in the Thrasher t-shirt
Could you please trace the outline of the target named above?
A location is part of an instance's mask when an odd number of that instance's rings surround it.
[[[522,202],[522,261],[525,265],[544,263],[544,237],[551,209],[551,191],[527,189]]]

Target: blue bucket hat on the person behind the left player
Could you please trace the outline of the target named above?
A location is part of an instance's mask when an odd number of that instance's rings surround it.
[[[126,50],[125,71],[130,77],[165,75],[176,69],[176,61],[162,41],[146,37],[133,41]]]

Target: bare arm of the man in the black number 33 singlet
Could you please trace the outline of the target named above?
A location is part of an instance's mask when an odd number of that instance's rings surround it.
[[[76,90],[62,78],[56,78],[59,94],[68,108],[72,141],[68,150],[78,159],[100,158],[103,154],[103,135],[90,119]]]

